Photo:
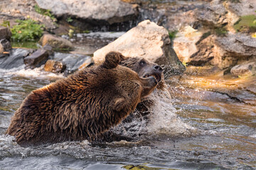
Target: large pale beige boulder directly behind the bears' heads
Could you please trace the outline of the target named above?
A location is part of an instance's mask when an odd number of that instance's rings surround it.
[[[126,57],[144,57],[174,74],[180,74],[184,70],[171,47],[168,31],[149,20],[142,21],[114,42],[94,52],[95,64],[102,63],[110,51],[121,52]]]

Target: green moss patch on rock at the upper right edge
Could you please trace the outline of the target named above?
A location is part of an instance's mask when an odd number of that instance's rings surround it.
[[[256,31],[256,16],[249,15],[249,16],[241,16],[240,19],[234,24],[233,26],[236,31],[243,32],[243,31]]]

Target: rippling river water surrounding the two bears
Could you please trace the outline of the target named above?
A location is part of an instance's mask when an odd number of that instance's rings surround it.
[[[108,40],[96,42],[103,46]],[[42,68],[24,69],[26,52],[14,50],[9,62],[0,58],[0,169],[256,169],[255,94],[240,91],[238,98],[250,103],[241,102],[213,90],[216,79],[196,76],[167,80],[171,98],[152,96],[156,106],[141,129],[146,134],[136,142],[18,146],[14,137],[4,135],[11,116],[31,91],[63,77]]]

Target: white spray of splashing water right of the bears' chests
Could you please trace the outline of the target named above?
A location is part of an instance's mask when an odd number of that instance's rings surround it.
[[[177,137],[196,135],[201,131],[183,123],[178,118],[167,89],[155,91],[149,98],[154,101],[154,106],[149,108],[149,111],[153,113],[150,115],[149,125],[147,126],[149,134]]]

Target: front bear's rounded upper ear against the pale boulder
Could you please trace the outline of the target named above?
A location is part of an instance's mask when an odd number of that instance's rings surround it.
[[[113,69],[117,67],[122,57],[124,56],[120,52],[109,52],[105,56],[105,62],[103,62],[102,66],[106,69]]]

